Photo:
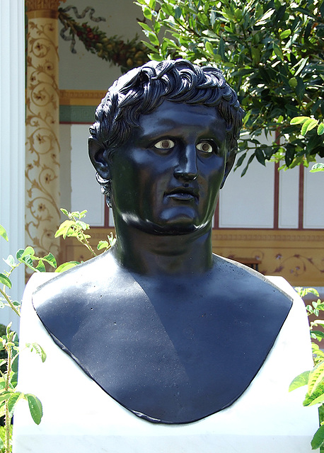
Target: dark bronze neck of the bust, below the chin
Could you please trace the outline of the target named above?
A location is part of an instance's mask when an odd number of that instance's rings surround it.
[[[212,268],[212,225],[187,234],[154,234],[117,222],[115,259],[141,275],[185,277]]]

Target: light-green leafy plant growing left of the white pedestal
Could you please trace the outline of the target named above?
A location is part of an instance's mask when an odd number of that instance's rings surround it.
[[[66,237],[75,237],[79,242],[86,246],[94,256],[96,256],[96,252],[88,241],[90,235],[85,233],[90,227],[86,222],[81,220],[85,217],[86,211],[68,212],[62,209],[62,212],[68,217],[68,220],[59,226],[55,237],[63,236],[64,239]],[[8,241],[8,234],[2,225],[0,225],[0,236]],[[115,239],[112,236],[108,236],[108,241],[100,241],[97,249],[98,251],[105,250],[110,248],[113,243],[115,243]],[[0,308],[8,306],[18,316],[21,316],[21,303],[13,301],[8,294],[8,290],[10,290],[12,286],[11,274],[13,273],[13,270],[23,264],[33,270],[33,272],[46,272],[45,265],[50,265],[51,268],[56,268],[55,272],[63,272],[64,270],[79,264],[77,261],[71,261],[69,263],[63,263],[57,268],[57,262],[52,253],[48,253],[47,256],[40,258],[35,256],[35,250],[30,246],[18,250],[16,258],[9,255],[8,258],[4,259],[4,262],[10,269],[0,273]],[[46,353],[40,345],[37,343],[27,343],[25,347],[30,349],[31,352],[36,352],[37,355],[40,356],[42,362],[45,362]],[[0,359],[0,418],[4,416],[4,427],[0,427],[0,453],[10,453],[12,443],[11,420],[16,404],[20,400],[27,401],[30,415],[34,422],[39,425],[42,420],[42,403],[37,396],[33,394],[24,394],[23,392],[16,390],[18,382],[19,345],[16,332],[11,331],[11,323],[6,327],[5,335],[0,337],[0,351],[5,352],[2,354],[2,356],[4,355],[4,358],[1,356]]]

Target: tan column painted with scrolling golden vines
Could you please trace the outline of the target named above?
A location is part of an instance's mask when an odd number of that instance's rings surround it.
[[[59,253],[54,239],[59,200],[59,0],[26,0],[26,243],[43,256]]]

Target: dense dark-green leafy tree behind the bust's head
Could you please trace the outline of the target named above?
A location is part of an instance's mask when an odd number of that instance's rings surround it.
[[[238,92],[246,115],[238,166],[284,159],[308,166],[324,156],[323,135],[307,139],[297,115],[323,120],[323,0],[138,0],[152,59],[213,63]],[[277,134],[271,146],[260,135]],[[280,144],[279,145],[279,139]],[[245,160],[245,158],[247,158]],[[245,173],[247,166],[243,173]]]

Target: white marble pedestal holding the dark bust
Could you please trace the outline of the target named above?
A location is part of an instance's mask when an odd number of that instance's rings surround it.
[[[54,344],[31,304],[35,287],[50,277],[35,275],[28,283],[20,333],[18,387],[40,398],[44,416],[37,426],[27,403],[18,404],[13,453],[312,451],[317,409],[302,406],[306,388],[288,392],[291,380],[313,366],[308,323],[303,302],[282,277],[271,280],[294,297],[294,304],[257,376],[232,406],[187,425],[156,425],[141,420],[105,394]],[[25,343],[33,342],[47,352],[45,363],[23,350]]]

